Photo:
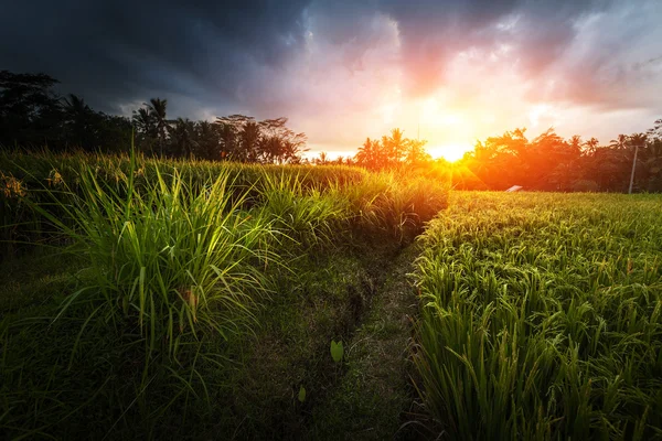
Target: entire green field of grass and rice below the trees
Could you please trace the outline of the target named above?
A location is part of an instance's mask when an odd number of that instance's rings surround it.
[[[658,195],[140,157],[0,165],[7,438],[662,433]]]

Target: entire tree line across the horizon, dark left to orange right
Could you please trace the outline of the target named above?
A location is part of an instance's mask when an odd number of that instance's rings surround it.
[[[0,147],[83,149],[126,152],[128,140],[145,154],[247,163],[357,165],[369,170],[441,168],[453,185],[505,190],[521,185],[544,191],[624,192],[634,164],[636,191],[662,191],[662,119],[643,133],[619,135],[608,144],[596,138],[559,137],[553,129],[528,139],[526,129],[477,141],[453,164],[433,160],[425,140],[393,129],[367,138],[354,157],[308,160],[307,138],[287,127],[287,118],[261,121],[243,115],[215,121],[168,118],[168,101],[152,98],[131,118],[93,110],[83,98],[57,95],[57,80],[45,74],[0,72]]]

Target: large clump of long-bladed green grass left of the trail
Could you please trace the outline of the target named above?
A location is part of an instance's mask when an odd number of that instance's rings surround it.
[[[60,314],[71,304],[92,304],[88,321],[128,321],[150,354],[167,349],[177,357],[186,338],[227,337],[250,316],[268,292],[264,267],[277,260],[273,232],[259,213],[241,209],[227,173],[193,189],[177,171],[164,176],[156,169],[137,190],[139,174],[134,164],[108,183],[88,168],[68,203],[52,195],[63,217],[35,209],[70,237],[71,252],[89,260],[93,281],[71,294]]]

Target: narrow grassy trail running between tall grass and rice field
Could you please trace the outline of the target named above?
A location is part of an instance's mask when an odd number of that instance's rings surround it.
[[[346,343],[342,378],[324,402],[316,406],[311,439],[412,438],[401,427],[416,398],[408,348],[418,301],[407,275],[418,254],[418,246],[410,245],[385,268],[388,276],[371,311]]]

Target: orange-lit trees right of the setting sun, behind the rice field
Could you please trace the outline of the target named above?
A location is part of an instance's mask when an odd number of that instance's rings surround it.
[[[543,191],[662,191],[662,119],[647,132],[619,135],[608,144],[579,136],[564,139],[553,129],[530,140],[525,129],[477,142],[460,161],[457,185]],[[462,174],[463,172],[463,174]]]

